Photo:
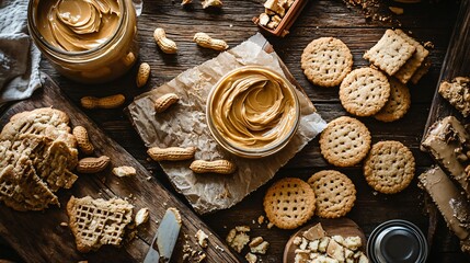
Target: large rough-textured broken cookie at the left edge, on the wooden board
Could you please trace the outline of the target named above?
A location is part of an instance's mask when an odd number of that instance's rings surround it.
[[[59,205],[59,188],[70,188],[77,175],[76,139],[69,117],[54,108],[37,108],[11,117],[0,134],[0,201],[15,210],[43,210]]]

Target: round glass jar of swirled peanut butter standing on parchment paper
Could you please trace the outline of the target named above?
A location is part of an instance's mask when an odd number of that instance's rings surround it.
[[[296,88],[261,66],[243,66],[225,75],[207,98],[206,118],[215,140],[244,158],[262,158],[283,149],[299,126]]]

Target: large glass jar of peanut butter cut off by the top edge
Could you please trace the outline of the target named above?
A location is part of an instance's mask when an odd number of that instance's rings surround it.
[[[36,46],[72,80],[111,81],[138,56],[131,0],[31,0],[27,19]]]

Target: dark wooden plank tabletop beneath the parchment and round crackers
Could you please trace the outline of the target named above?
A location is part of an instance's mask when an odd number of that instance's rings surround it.
[[[112,83],[99,85],[85,85],[69,81],[60,77],[45,60],[42,62],[42,68],[59,83],[60,88],[76,104],[84,95],[102,96],[117,92],[126,95],[126,104],[128,104],[137,94],[156,88],[180,72],[217,56],[217,52],[197,47],[192,42],[194,33],[209,33],[215,37],[228,41],[230,46],[236,46],[255,34],[257,28],[252,24],[251,19],[263,11],[263,0],[225,0],[223,8],[218,11],[203,10],[199,0],[194,0],[194,3],[187,8],[180,7],[179,1],[145,1],[144,12],[138,24],[139,60],[149,62],[152,70],[149,83],[142,89],[136,88],[135,84],[137,67]],[[420,151],[419,144],[459,4],[456,1],[425,1],[419,4],[382,1],[382,14],[390,14],[387,10],[389,4],[403,7],[404,14],[394,15],[392,22],[370,21],[365,19],[360,8],[351,8],[343,1],[310,0],[290,30],[289,35],[285,38],[268,37],[268,39],[326,121],[346,115],[346,113],[340,104],[337,88],[314,87],[303,77],[300,69],[300,55],[310,41],[321,36],[341,38],[353,53],[355,68],[367,65],[367,61],[362,58],[364,52],[380,38],[386,28],[397,27],[401,24],[401,27],[412,32],[416,39],[421,42],[431,41],[435,46],[431,49],[429,55],[433,66],[428,75],[417,85],[410,85],[412,106],[405,117],[388,124],[374,118],[362,118],[370,129],[374,142],[394,139],[409,146],[416,159],[416,174],[419,174],[432,165],[428,156]],[[152,38],[152,32],[156,27],[165,28],[168,36],[177,43],[177,55],[165,55],[158,49]],[[140,163],[151,170],[168,188],[173,191],[159,165],[148,160],[146,148],[124,115],[123,108],[85,111],[85,113],[111,138],[121,144]],[[262,236],[271,243],[268,253],[261,256],[263,262],[280,262],[284,244],[294,231],[267,229],[266,225],[260,227],[257,222],[253,222],[260,215],[264,215],[262,198],[265,190],[277,179],[297,176],[307,180],[312,173],[322,169],[334,168],[322,159],[318,139],[316,139],[283,168],[267,185],[257,190],[239,205],[204,216],[203,219],[221,237],[226,237],[234,226],[251,226],[251,236]],[[416,186],[417,180],[414,180],[402,193],[383,195],[374,193],[367,185],[360,167],[340,169],[340,171],[349,175],[357,188],[356,205],[347,217],[356,221],[366,236],[380,222],[394,218],[410,220],[424,232],[427,232],[428,215],[424,204],[424,193]],[[183,196],[180,198],[184,199]],[[3,241],[0,241],[0,259],[21,261]],[[27,261],[27,259],[23,260]],[[429,262],[470,262],[469,258],[459,252],[457,238],[449,233],[440,216],[431,248]]]

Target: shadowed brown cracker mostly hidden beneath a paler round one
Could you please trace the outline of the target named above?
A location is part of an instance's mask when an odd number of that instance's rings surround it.
[[[408,87],[394,78],[389,78],[390,98],[387,104],[374,117],[381,122],[393,122],[406,114],[411,106],[411,95]]]

